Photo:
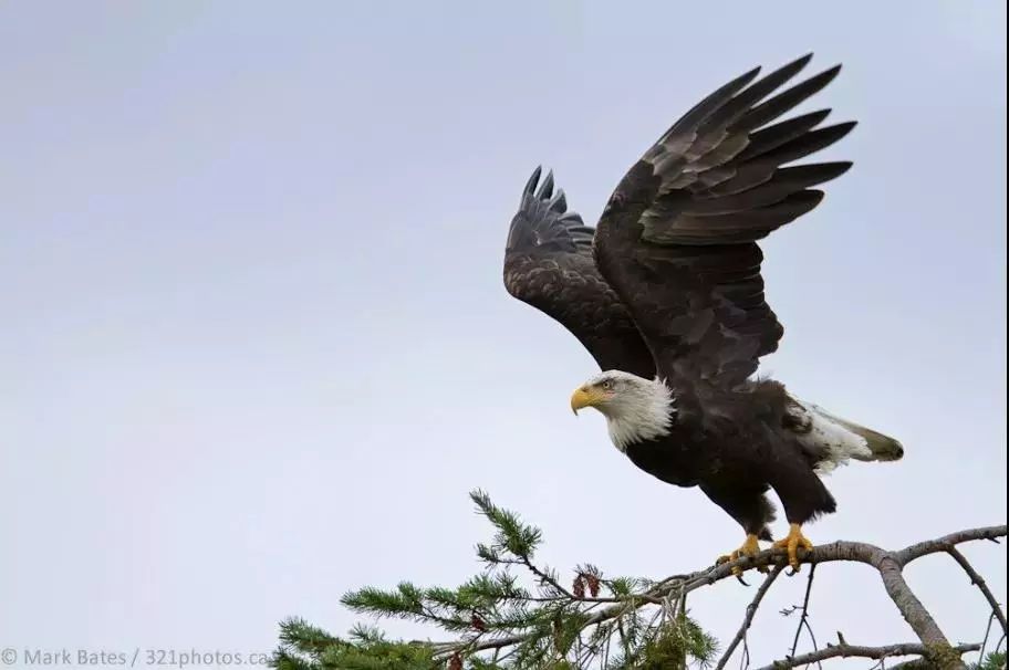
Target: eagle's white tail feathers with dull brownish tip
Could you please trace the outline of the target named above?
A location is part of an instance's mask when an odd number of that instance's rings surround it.
[[[897,440],[834,416],[811,402],[795,400],[789,408],[790,428],[799,442],[819,457],[816,471],[828,473],[838,465],[856,461],[898,461],[904,447]]]

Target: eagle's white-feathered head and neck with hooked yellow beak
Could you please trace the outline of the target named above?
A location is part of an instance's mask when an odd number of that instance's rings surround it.
[[[669,433],[676,413],[673,391],[659,379],[606,370],[571,395],[574,413],[585,407],[597,409],[610,428],[610,439],[621,451],[628,444],[654,440]]]

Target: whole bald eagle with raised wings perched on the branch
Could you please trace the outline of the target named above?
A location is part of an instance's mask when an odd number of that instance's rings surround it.
[[[821,126],[830,109],[779,121],[826,86],[838,65],[781,90],[803,56],[728,82],[645,151],[593,229],[537,168],[508,231],[504,286],[560,322],[601,374],[571,407],[602,412],[631,462],[677,486],[698,486],[746,541],[719,561],[772,541],[777,493],[793,569],[812,547],[802,525],[835,511],[820,475],[851,459],[894,461],[901,443],[757,378],[783,328],[764,301],[757,241],[815,208],[812,187],[851,163],[793,164],[854,123]]]

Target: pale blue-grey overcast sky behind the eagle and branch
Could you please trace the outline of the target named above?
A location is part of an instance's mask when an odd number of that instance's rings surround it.
[[[831,477],[808,534],[1005,522],[1005,25],[995,0],[0,4],[0,647],[345,631],[349,589],[478,568],[477,486],[562,568],[738,545],[572,418],[596,368],[500,263],[538,164],[595,221],[701,96],[811,50],[808,74],[845,69],[803,109],[861,122],[825,153],[855,167],[763,244],[787,332],[762,369],[907,457]],[[1005,598],[1005,548],[965,551]],[[984,632],[948,558],[908,578],[954,639]],[[787,651],[804,582],[776,585],[755,659]],[[691,606],[726,641],[751,596]],[[813,598],[821,640],[913,639],[865,566]]]

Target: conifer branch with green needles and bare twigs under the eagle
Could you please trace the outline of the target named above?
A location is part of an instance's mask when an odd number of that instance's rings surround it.
[[[491,544],[477,545],[477,555],[486,565],[483,574],[456,588],[422,588],[403,582],[392,590],[368,587],[352,592],[342,600],[355,611],[376,617],[434,624],[456,632],[459,635],[457,639],[441,642],[388,641],[371,628],[357,628],[347,639],[341,639],[292,619],[282,625],[281,647],[274,657],[274,666],[284,670],[562,670],[589,667],[680,668],[686,667],[688,659],[701,664],[714,663],[717,645],[687,616],[687,595],[734,576],[734,567],[773,566],[747,607],[742,624],[718,660],[716,670],[724,670],[740,645],[746,664],[749,664],[747,634],[763,597],[786,569],[786,556],[780,549],[769,549],[756,557],[743,557],[689,574],[673,575],[660,582],[604,578],[602,572],[592,565],[578,566],[572,587],[568,588],[558,573],[534,561],[535,551],[542,543],[539,528],[495,505],[481,491],[472,492],[470,498],[477,511],[488,519],[496,531]],[[920,656],[934,667],[966,668],[960,655],[981,646],[950,646],[930,613],[904,579],[903,568],[923,556],[949,554],[992,606],[989,621],[998,617],[1005,630],[1005,615],[998,609],[994,595],[956,547],[978,540],[997,542],[1006,534],[1007,528],[1001,525],[960,531],[899,551],[860,542],[834,542],[804,553],[801,562],[812,568],[801,606],[803,614],[790,655],[773,667],[819,663],[841,656],[877,660],[891,656]],[[808,615],[815,567],[832,562],[862,563],[877,570],[897,611],[908,621],[919,641],[888,647],[857,647],[841,639],[839,645],[795,656],[802,629],[813,636]],[[512,570],[519,570],[518,576]],[[520,584],[519,577],[523,574],[533,582],[532,588]],[[815,638],[812,639],[815,647]],[[908,669],[912,667],[907,666]]]

